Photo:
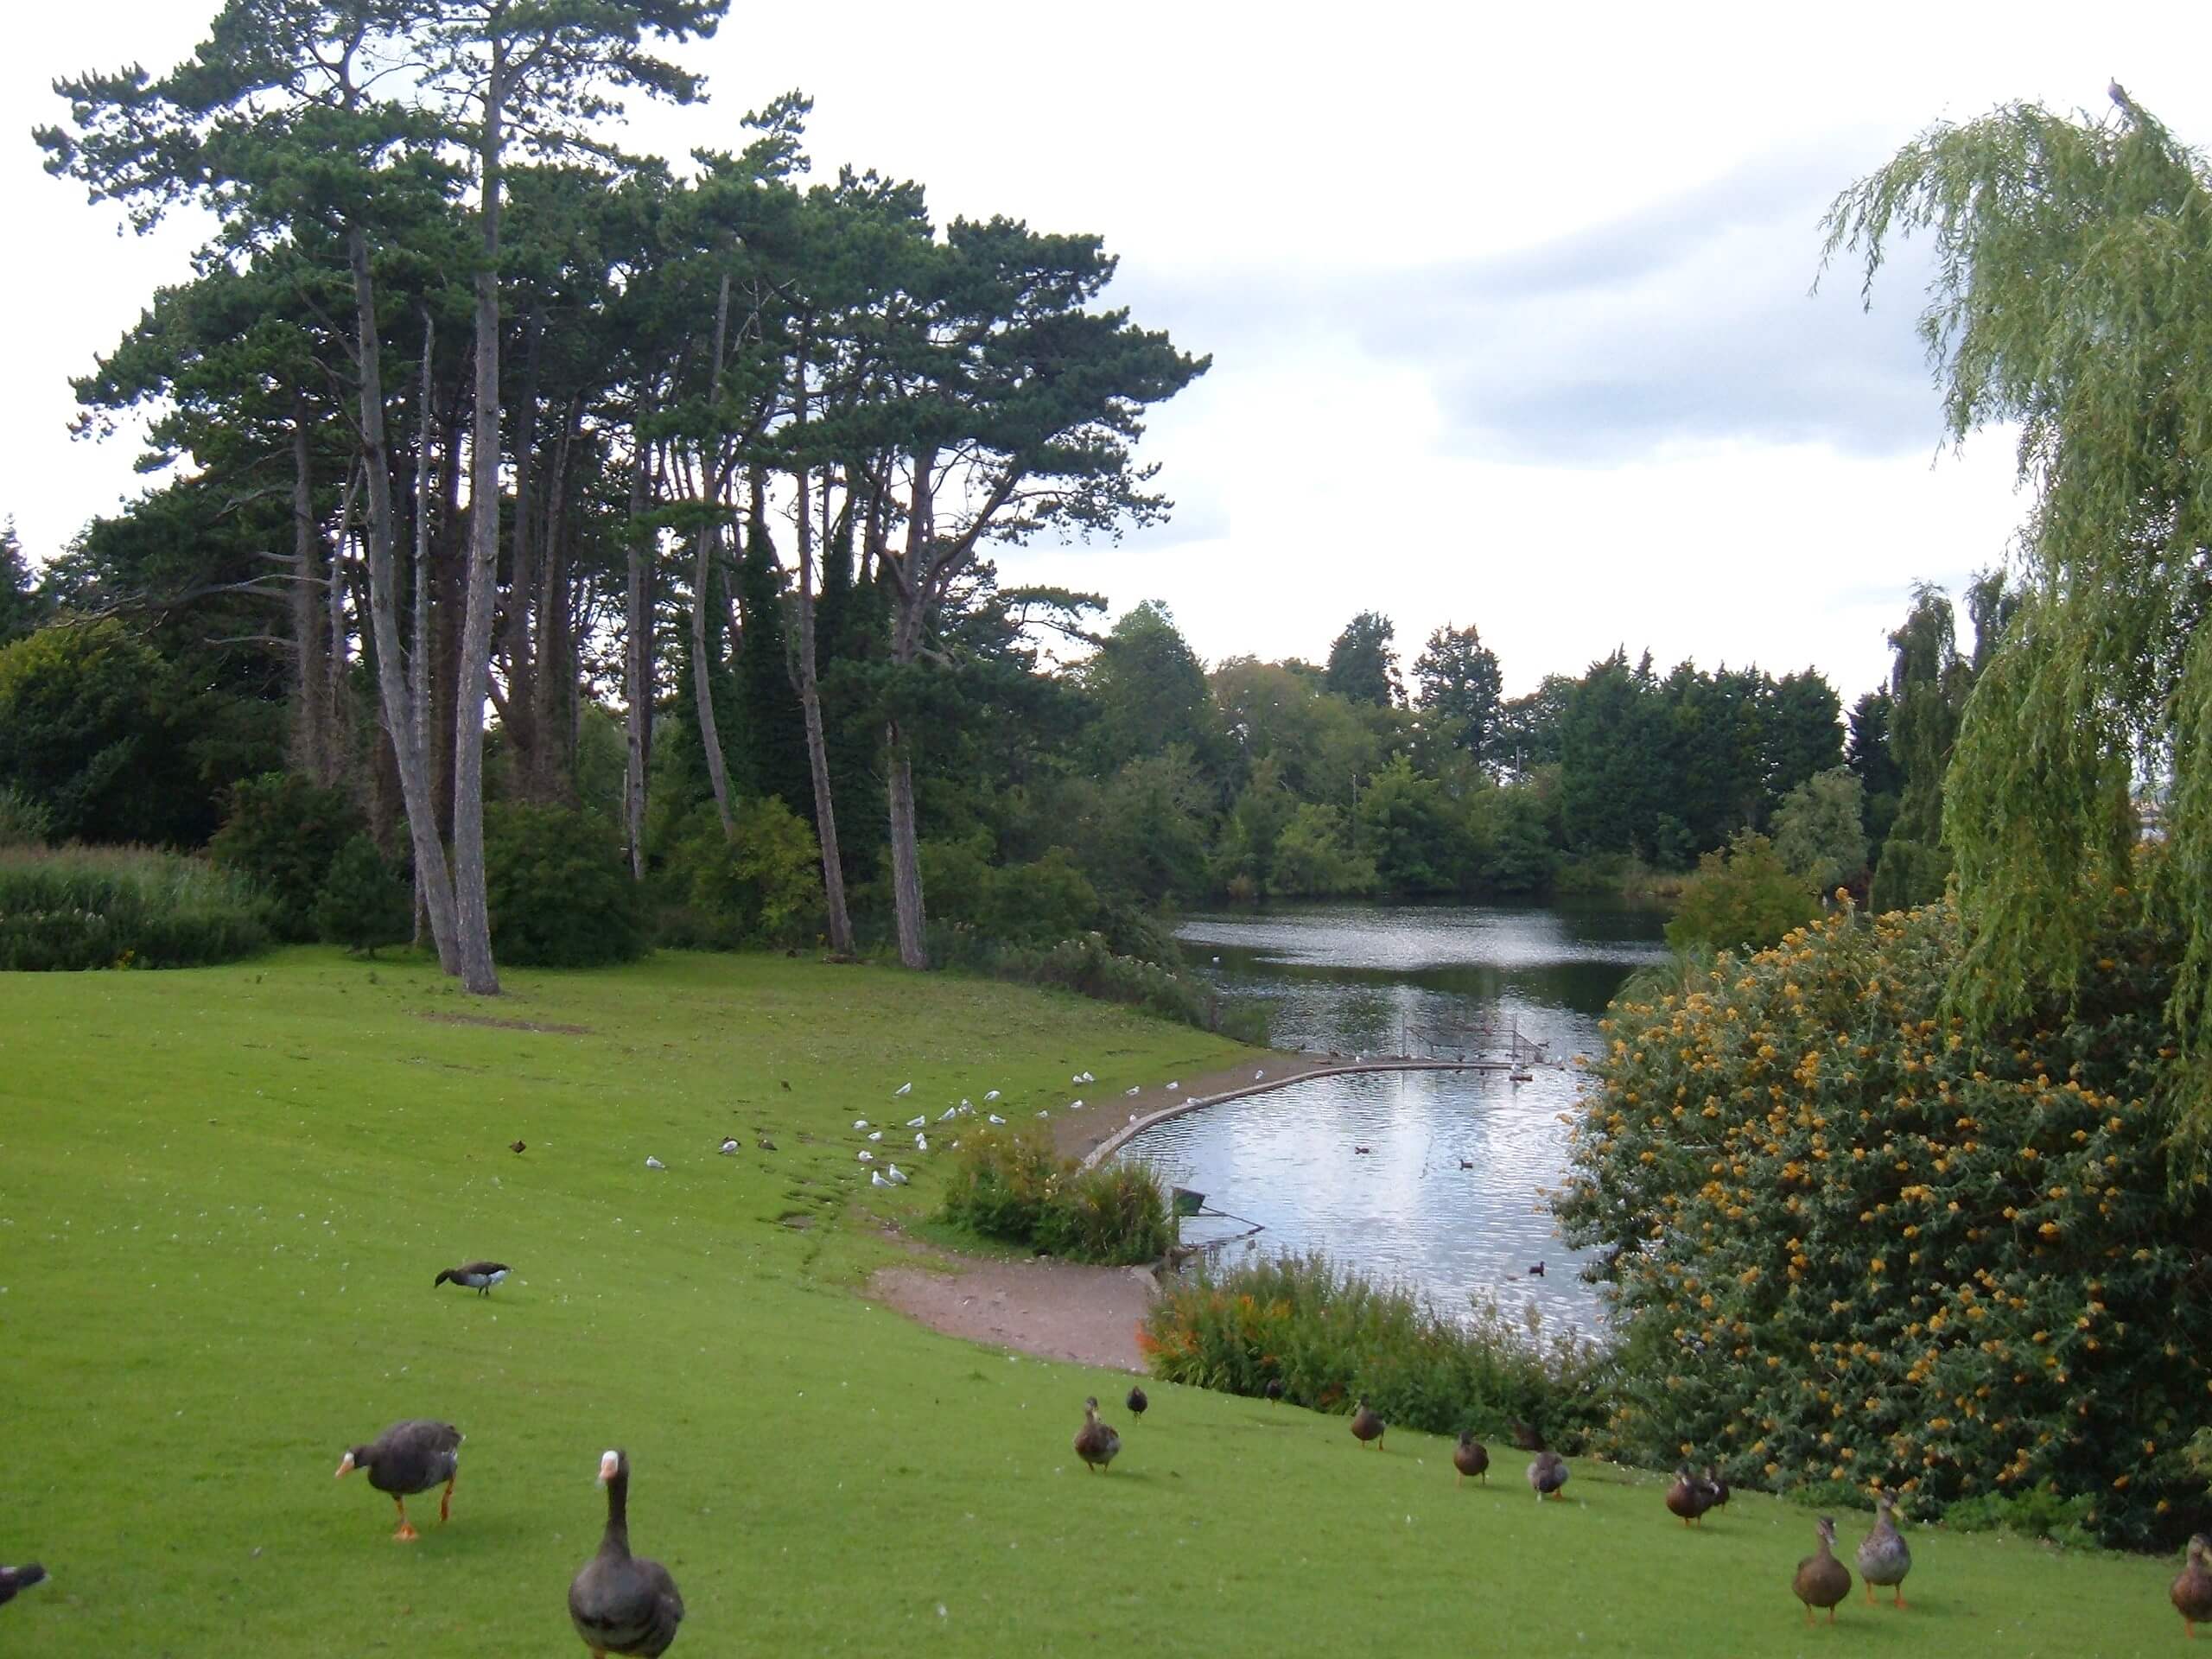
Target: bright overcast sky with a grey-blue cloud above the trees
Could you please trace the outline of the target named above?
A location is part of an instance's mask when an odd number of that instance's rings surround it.
[[[0,513],[33,557],[135,491],[69,438],[69,376],[186,270],[179,228],[40,170],[53,75],[166,69],[212,0],[29,11],[0,62],[13,228]],[[1475,624],[1509,690],[1626,644],[1661,666],[1880,681],[1913,580],[2004,557],[2006,434],[1942,445],[1902,259],[1807,290],[1836,190],[1938,117],[2130,93],[2212,139],[2212,9],[1117,4],[739,7],[684,53],[710,102],[630,144],[734,146],[814,95],[818,170],[929,186],[940,219],[1088,230],[1113,299],[1212,372],[1144,445],[1175,522],[1002,555],[1009,582],[1166,599],[1199,655],[1318,659],[1356,611],[1407,664]],[[53,18],[53,22],[44,22]]]

